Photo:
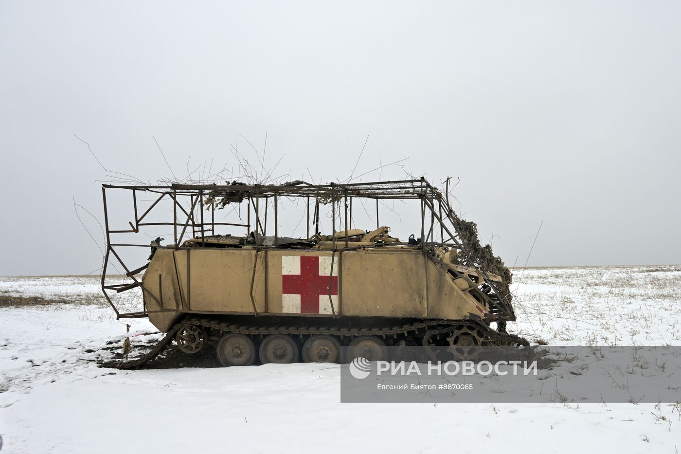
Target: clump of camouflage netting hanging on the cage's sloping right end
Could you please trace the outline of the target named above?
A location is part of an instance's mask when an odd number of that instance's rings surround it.
[[[511,270],[506,267],[503,260],[501,260],[501,257],[494,256],[492,246],[488,244],[483,246],[480,244],[479,235],[477,233],[477,224],[456,217],[456,230],[458,230],[462,241],[469,245],[473,261],[479,264],[479,266],[488,273],[494,273],[501,276],[502,282],[496,284],[496,288],[501,292],[502,297],[508,295],[510,301],[511,292],[509,291],[509,287],[511,286],[512,279]],[[469,260],[464,254],[459,254],[457,260],[464,266],[469,265]]]

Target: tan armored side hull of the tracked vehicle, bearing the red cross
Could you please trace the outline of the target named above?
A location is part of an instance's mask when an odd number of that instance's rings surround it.
[[[447,320],[488,313],[466,280],[408,247],[159,248],[142,284],[161,331],[183,313]]]

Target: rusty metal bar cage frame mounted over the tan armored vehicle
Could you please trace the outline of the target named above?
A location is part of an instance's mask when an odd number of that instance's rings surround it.
[[[134,212],[134,222],[128,222],[129,230],[112,230],[109,226],[109,213],[107,206],[107,191],[112,190],[125,190],[130,191],[132,195],[133,202],[133,212]],[[439,258],[437,258],[434,253],[435,247],[451,247],[452,249],[457,249],[458,252],[463,253],[468,259],[469,266],[473,266],[480,271],[483,275],[484,280],[488,283],[492,290],[494,290],[494,295],[497,297],[493,299],[489,294],[485,292],[478,291],[476,294],[479,298],[483,299],[488,303],[490,311],[492,314],[488,316],[488,320],[515,320],[516,316],[513,313],[513,307],[511,305],[510,294],[501,294],[498,291],[498,287],[495,286],[492,279],[490,279],[488,271],[481,267],[472,254],[471,245],[467,244],[465,239],[461,236],[458,229],[458,216],[452,206],[449,204],[449,179],[445,183],[445,187],[440,189],[434,187],[430,184],[425,177],[420,179],[409,179],[409,180],[398,180],[398,181],[378,181],[370,183],[328,183],[326,185],[313,185],[311,183],[306,183],[305,181],[294,181],[292,183],[284,183],[281,185],[247,185],[244,183],[232,183],[227,185],[200,185],[200,184],[181,184],[172,183],[168,185],[102,185],[102,199],[104,202],[104,223],[106,230],[106,254],[104,257],[104,268],[101,273],[101,290],[104,292],[108,303],[116,312],[117,318],[140,318],[148,316],[146,310],[146,303],[143,303],[143,310],[141,312],[119,312],[116,305],[113,303],[108,292],[124,292],[131,290],[133,288],[140,287],[144,296],[151,297],[158,301],[157,297],[150,291],[144,288],[141,280],[136,277],[136,275],[148,266],[144,264],[142,267],[136,269],[130,269],[127,264],[121,259],[118,254],[117,249],[122,247],[150,247],[149,244],[136,244],[136,243],[112,243],[112,234],[138,234],[140,232],[140,227],[142,226],[173,226],[174,230],[174,241],[172,248],[174,249],[187,249],[183,246],[182,241],[185,237],[185,233],[191,224],[192,234],[194,239],[202,239],[199,247],[206,247],[205,237],[206,233],[210,232],[215,234],[216,226],[236,226],[244,227],[247,230],[247,234],[251,232],[251,224],[253,224],[253,234],[255,235],[255,254],[257,254],[259,249],[267,249],[266,246],[258,245],[258,237],[260,235],[265,235],[266,231],[266,220],[268,215],[268,199],[273,199],[274,206],[274,245],[273,247],[278,247],[277,241],[279,238],[278,230],[278,216],[279,216],[279,198],[305,198],[306,199],[306,211],[307,211],[307,222],[306,222],[306,232],[307,237],[310,237],[310,209],[311,200],[315,201],[315,206],[321,200],[321,203],[331,203],[332,204],[332,232],[336,232],[336,205],[338,206],[338,213],[342,213],[344,222],[338,222],[338,227],[345,226],[345,229],[349,228],[352,219],[352,200],[353,198],[366,198],[376,200],[376,224],[377,228],[379,225],[379,201],[380,200],[420,200],[421,202],[421,237],[419,243],[414,245],[415,248],[421,249],[424,255],[424,263],[426,263],[426,281],[428,279],[428,267],[427,260],[435,262],[440,265],[445,265]],[[138,205],[140,205],[140,200],[138,199],[139,194],[155,194],[158,197],[151,203],[150,206],[146,207],[146,210],[142,215],[138,214]],[[247,223],[246,224],[234,224],[227,222],[215,222],[215,209],[217,205],[217,200],[213,197],[209,204],[206,204],[208,196],[218,196],[221,198],[228,198],[232,200],[227,200],[227,203],[247,203]],[[173,219],[172,222],[144,222],[147,215],[157,207],[159,202],[164,198],[168,198],[173,202]],[[180,204],[179,200],[187,200],[189,198],[189,205],[191,208],[189,211]],[[265,201],[264,213],[260,206],[261,200]],[[341,206],[342,205],[342,206]],[[252,207],[252,210],[251,210]],[[198,209],[198,213],[196,213]],[[343,211],[340,211],[340,210]],[[251,218],[251,211],[253,211],[253,217]],[[210,219],[206,219],[204,215],[206,212],[210,213]],[[315,210],[317,213],[317,226],[319,225],[319,215],[318,208]],[[313,213],[313,217],[315,216]],[[261,222],[261,216],[264,214],[264,226]],[[430,222],[428,222],[428,217]],[[350,220],[350,223],[349,223]],[[440,230],[440,240],[435,241],[436,229]],[[318,230],[318,227],[315,228]],[[315,231],[317,233],[317,231]],[[349,243],[347,235],[345,239],[336,240],[336,235],[332,235],[333,245],[332,253],[333,257],[335,254],[339,254],[339,259],[342,258],[343,252],[348,252],[350,250],[356,249],[351,243]],[[445,239],[446,237],[446,239]],[[394,244],[394,243],[392,243]],[[402,243],[406,244],[406,243]],[[169,246],[164,246],[169,247]],[[192,247],[193,248],[193,247]],[[129,277],[132,282],[128,284],[108,284],[107,270],[110,259],[112,256],[121,264],[123,269],[125,269],[125,276]],[[451,267],[450,267],[451,268]],[[254,269],[255,271],[255,269]],[[466,279],[473,288],[477,288],[477,284],[471,280],[471,278],[463,273],[462,271],[452,270],[453,273],[458,273],[457,277],[462,277]],[[255,276],[255,272],[253,273]],[[253,283],[251,283],[253,284]],[[251,295],[253,299],[253,295]],[[428,299],[427,286],[426,286],[426,299]],[[255,311],[255,303],[253,303],[254,315],[258,315]],[[334,314],[335,315],[335,314]]]

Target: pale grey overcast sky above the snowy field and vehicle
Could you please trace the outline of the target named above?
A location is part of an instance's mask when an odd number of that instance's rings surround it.
[[[104,172],[460,177],[507,264],[681,262],[681,3],[0,1],[0,275],[87,273]],[[189,160],[189,165],[187,164]],[[257,164],[259,167],[259,164]],[[402,168],[362,177],[404,177]],[[405,213],[406,214],[406,213]],[[97,240],[93,218],[81,212]],[[398,229],[398,226],[394,226]],[[398,229],[399,230],[399,229]],[[415,232],[417,233],[417,232]],[[148,241],[148,239],[145,239]],[[101,241],[100,241],[101,242]]]

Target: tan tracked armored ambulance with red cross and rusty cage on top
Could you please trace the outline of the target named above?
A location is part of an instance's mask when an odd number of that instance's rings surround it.
[[[129,228],[110,227],[107,196],[113,191],[131,193]],[[466,357],[479,346],[528,345],[505,332],[506,322],[516,319],[510,273],[498,258],[490,260],[491,249],[480,247],[472,223],[456,215],[448,187],[434,187],[424,178],[328,185],[104,185],[102,192],[108,242],[102,290],[118,318],[148,317],[167,333],[144,357],[117,367],[137,367],[172,342],[187,354],[215,349],[223,366],[388,359],[386,346],[445,345]],[[392,237],[390,227],[380,224],[379,204],[390,199],[414,200],[419,207],[410,214],[420,219],[420,232],[408,241]],[[306,218],[305,237],[280,236],[282,200]],[[353,228],[358,200],[365,212],[366,201],[375,201],[375,228]],[[138,205],[147,202],[152,203],[139,215]],[[172,205],[160,213],[172,212],[172,221],[151,219],[161,202]],[[246,222],[216,220],[225,208],[238,209]],[[322,218],[321,208],[330,218]],[[268,215],[270,224],[274,217],[273,232],[266,232]],[[112,237],[150,228],[172,228],[172,243],[162,245],[157,238],[145,264],[127,267],[119,250],[149,245]],[[108,282],[112,263],[125,269],[128,283]],[[119,310],[112,296],[136,288],[141,310]]]

